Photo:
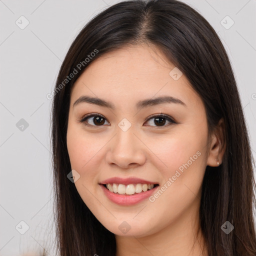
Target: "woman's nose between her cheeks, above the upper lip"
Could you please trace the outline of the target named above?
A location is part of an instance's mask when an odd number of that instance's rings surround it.
[[[108,143],[106,162],[117,165],[120,168],[134,168],[142,165],[145,160],[144,143],[133,133],[130,128],[127,131],[116,130],[116,135]]]

